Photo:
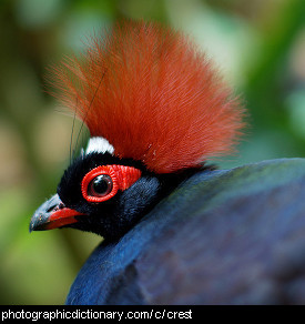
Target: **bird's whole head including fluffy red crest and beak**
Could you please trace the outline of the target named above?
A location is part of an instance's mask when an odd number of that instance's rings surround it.
[[[244,126],[206,57],[156,23],[119,23],[52,73],[91,139],[30,231],[69,226],[118,239],[206,159],[231,153]]]

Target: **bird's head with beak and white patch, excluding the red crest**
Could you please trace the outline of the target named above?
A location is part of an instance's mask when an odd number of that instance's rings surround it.
[[[69,226],[118,239],[196,170],[155,174],[112,151],[104,139],[92,138],[64,171],[58,193],[35,211],[30,231]]]

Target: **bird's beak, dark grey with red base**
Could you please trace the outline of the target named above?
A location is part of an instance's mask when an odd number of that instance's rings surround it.
[[[77,223],[75,216],[83,215],[75,210],[64,206],[58,194],[44,202],[33,214],[30,232],[62,227]]]

